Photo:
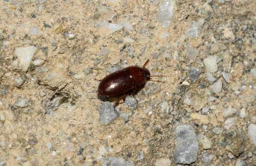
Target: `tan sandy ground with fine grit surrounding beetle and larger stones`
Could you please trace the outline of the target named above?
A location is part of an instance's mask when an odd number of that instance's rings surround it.
[[[256,78],[250,72],[256,68],[256,1],[176,1],[167,28],[158,22],[158,6],[158,0],[0,0],[1,166],[101,166],[110,156],[134,166],[153,166],[159,159],[178,166],[174,130],[181,124],[192,125],[196,135],[213,142],[210,148],[199,142],[191,166],[205,165],[204,153],[213,154],[208,166],[235,166],[237,160],[255,166],[256,148],[247,130],[256,124]],[[200,18],[198,35],[186,36]],[[111,33],[98,26],[121,20],[133,30]],[[28,70],[20,70],[13,64],[15,48],[30,46],[37,50]],[[222,82],[218,94],[210,88],[213,82],[203,63],[210,55],[218,57],[213,73]],[[148,82],[135,95],[135,109],[118,106],[128,120],[118,117],[102,125],[94,78],[114,68],[142,66],[147,59],[147,68],[165,75],[159,79],[166,83]],[[192,68],[200,70],[195,81],[189,77]],[[207,102],[210,96],[215,100]],[[19,107],[23,99],[27,103]],[[229,106],[237,111],[226,117],[222,112]],[[226,129],[224,122],[231,117],[235,124]],[[223,132],[213,133],[216,127]],[[234,138],[242,150],[222,143],[232,130],[244,136],[240,142]]]

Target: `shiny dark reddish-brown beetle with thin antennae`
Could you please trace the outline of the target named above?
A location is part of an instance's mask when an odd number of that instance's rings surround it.
[[[150,76],[149,70],[146,69],[148,62],[149,59],[146,60],[142,67],[137,65],[129,66],[107,75],[102,80],[98,80],[100,81],[98,85],[98,99],[101,101],[116,100],[115,105],[117,106],[119,101],[124,101],[127,95],[137,94],[144,88],[147,81],[156,81],[151,80],[151,77],[164,77]]]

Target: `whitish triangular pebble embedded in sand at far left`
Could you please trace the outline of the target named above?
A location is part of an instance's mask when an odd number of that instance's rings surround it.
[[[37,51],[37,47],[17,47],[14,50],[14,54],[18,58],[18,64],[21,66],[22,71],[27,71],[34,54]]]

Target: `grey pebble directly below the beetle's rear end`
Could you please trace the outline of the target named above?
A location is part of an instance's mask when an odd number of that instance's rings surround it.
[[[115,104],[105,101],[99,107],[99,121],[102,125],[109,125],[117,118]]]

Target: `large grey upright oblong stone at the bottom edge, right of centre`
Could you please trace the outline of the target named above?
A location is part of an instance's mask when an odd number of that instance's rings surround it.
[[[182,164],[195,162],[198,153],[198,141],[194,128],[191,125],[179,125],[175,130],[175,134],[174,161]]]

